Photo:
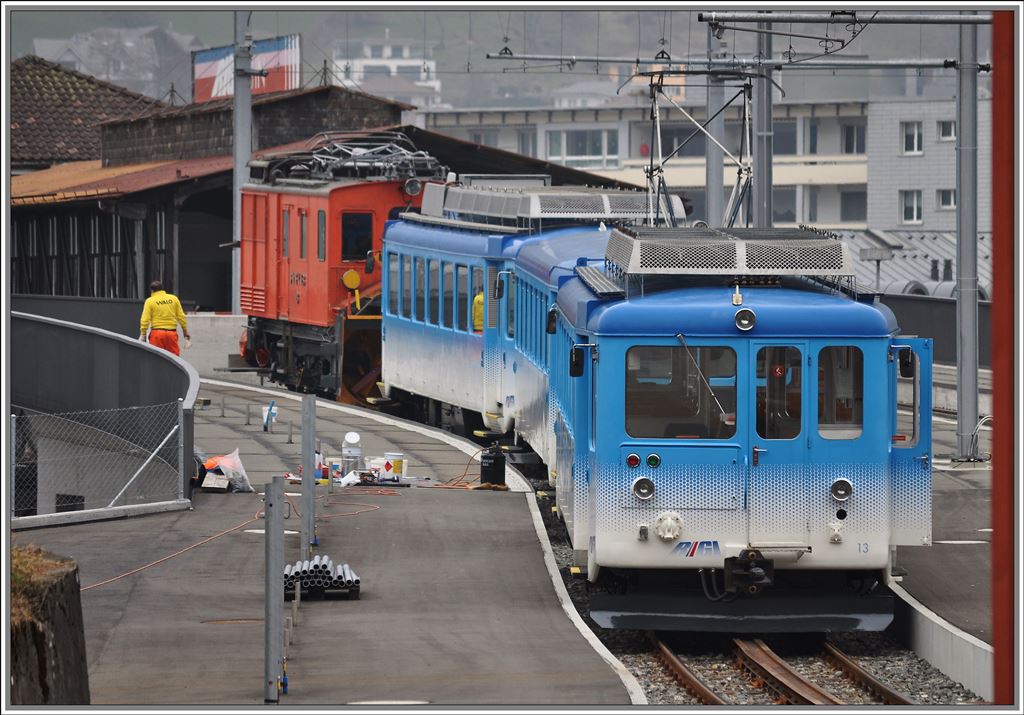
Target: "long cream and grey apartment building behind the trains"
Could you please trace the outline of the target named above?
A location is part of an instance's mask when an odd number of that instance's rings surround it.
[[[892,96],[879,83],[842,77],[786,78],[786,95],[773,102],[773,213],[776,225],[953,230],[955,228],[955,100],[946,96]],[[427,129],[488,146],[644,185],[644,167],[654,153],[645,96],[588,89],[599,106],[564,98],[568,87],[544,109],[427,109]],[[611,83],[608,83],[609,86]],[[616,85],[617,86],[617,85]],[[605,90],[608,87],[604,88]],[[885,89],[885,88],[883,88]],[[727,90],[728,98],[735,90]],[[852,98],[851,98],[852,97]],[[677,99],[705,121],[705,92],[689,86]],[[738,104],[738,102],[736,102]],[[706,218],[705,136],[670,102],[659,106],[662,155],[678,150],[666,166],[674,192],[684,194],[693,218]],[[750,155],[741,142],[738,106],[724,113],[723,144],[734,156]],[[978,104],[978,227],[989,230],[990,101]],[[736,164],[725,160],[725,197],[736,182]]]

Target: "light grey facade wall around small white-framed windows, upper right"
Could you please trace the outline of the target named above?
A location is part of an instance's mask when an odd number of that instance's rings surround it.
[[[956,187],[956,142],[941,141],[938,122],[956,119],[956,101],[872,101],[867,121],[867,222],[877,228],[955,230],[956,211],[937,208],[936,193]],[[903,154],[901,122],[921,122],[924,153]],[[991,100],[978,99],[978,230],[992,227]],[[957,127],[958,130],[958,127]],[[1008,160],[1011,160],[1008,155]],[[902,223],[900,191],[921,191],[922,223]]]

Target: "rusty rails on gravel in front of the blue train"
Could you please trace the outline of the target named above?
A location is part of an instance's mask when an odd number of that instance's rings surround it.
[[[716,691],[713,683],[705,681],[680,659],[675,649],[655,638],[657,657],[676,680],[705,705],[730,705],[730,701]],[[811,682],[779,657],[761,639],[735,638],[735,667],[750,676],[751,684],[771,693],[777,705],[849,705],[827,689]],[[825,642],[818,656],[839,670],[859,688],[886,705],[914,705],[902,693],[892,689],[864,670],[856,661],[836,645]]]

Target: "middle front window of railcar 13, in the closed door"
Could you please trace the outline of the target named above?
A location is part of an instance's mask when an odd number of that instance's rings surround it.
[[[757,363],[757,430],[765,439],[800,434],[803,394],[800,350],[786,345],[762,347]]]

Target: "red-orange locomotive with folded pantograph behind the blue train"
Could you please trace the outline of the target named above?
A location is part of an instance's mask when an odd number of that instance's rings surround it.
[[[365,403],[380,373],[384,223],[447,170],[398,133],[333,135],[249,167],[241,355],[289,389]]]

